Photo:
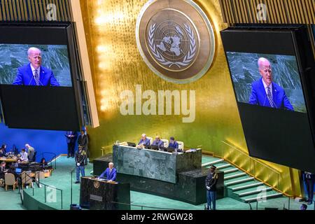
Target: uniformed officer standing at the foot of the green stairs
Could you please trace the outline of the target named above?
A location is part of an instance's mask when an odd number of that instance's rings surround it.
[[[207,208],[206,210],[216,210],[216,183],[218,182],[218,174],[216,174],[216,167],[211,165],[210,172],[206,179],[207,188]],[[211,203],[213,208],[211,207]]]

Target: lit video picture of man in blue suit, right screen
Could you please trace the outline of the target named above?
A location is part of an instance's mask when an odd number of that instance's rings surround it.
[[[238,102],[307,113],[295,56],[226,52]]]

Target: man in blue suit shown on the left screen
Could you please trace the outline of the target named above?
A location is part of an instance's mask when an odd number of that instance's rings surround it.
[[[41,50],[29,48],[27,55],[29,64],[18,68],[18,74],[13,85],[59,86],[54,73],[41,66]]]

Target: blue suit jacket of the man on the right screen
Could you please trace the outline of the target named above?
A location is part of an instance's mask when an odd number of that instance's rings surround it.
[[[286,92],[284,92],[282,87],[276,85],[276,83],[272,83],[272,99],[276,109],[294,111],[288,97],[286,97]],[[251,97],[249,97],[249,104],[271,107],[265,87],[262,83],[262,78],[251,84]]]

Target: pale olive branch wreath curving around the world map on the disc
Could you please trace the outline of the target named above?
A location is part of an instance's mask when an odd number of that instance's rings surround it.
[[[150,29],[148,31],[149,47],[150,47],[151,52],[152,52],[153,56],[155,57],[155,59],[157,59],[163,65],[168,65],[169,68],[173,65],[179,66],[179,68],[181,68],[181,66],[188,66],[188,64],[190,64],[190,62],[195,57],[196,50],[197,50],[195,34],[194,34],[193,30],[190,28],[190,26],[184,24],[184,27],[185,27],[187,34],[188,34],[189,43],[190,43],[189,44],[189,51],[188,51],[187,55],[185,55],[182,62],[169,62],[167,59],[165,59],[165,57],[163,57],[160,54],[160,52],[158,51],[158,49],[154,43],[153,35],[154,35],[154,31],[156,29],[155,25],[156,25],[156,23],[151,25]]]

